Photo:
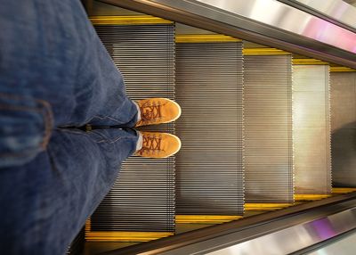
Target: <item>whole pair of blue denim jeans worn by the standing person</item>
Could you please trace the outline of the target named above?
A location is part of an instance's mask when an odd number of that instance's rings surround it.
[[[0,253],[64,254],[135,151],[137,109],[78,0],[0,6]]]

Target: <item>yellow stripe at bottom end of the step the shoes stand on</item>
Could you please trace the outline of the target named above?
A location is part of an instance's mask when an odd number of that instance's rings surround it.
[[[174,235],[173,232],[90,231],[85,233],[88,242],[149,242]]]

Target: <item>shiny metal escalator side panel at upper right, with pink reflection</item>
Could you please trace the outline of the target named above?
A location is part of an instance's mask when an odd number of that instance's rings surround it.
[[[101,1],[182,22],[200,29],[212,30],[288,52],[356,68],[355,34],[277,1],[209,1],[210,4],[222,5],[226,9],[231,9],[229,4],[233,5],[232,7],[241,8],[235,13],[234,10],[223,10],[194,0]],[[279,7],[275,8],[275,6]],[[331,45],[323,42],[331,43]],[[344,47],[351,52],[342,50]]]

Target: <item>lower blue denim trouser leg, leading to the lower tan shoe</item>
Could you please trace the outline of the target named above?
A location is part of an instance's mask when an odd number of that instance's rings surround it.
[[[0,169],[0,251],[64,254],[135,151],[134,130],[55,130],[47,150]]]

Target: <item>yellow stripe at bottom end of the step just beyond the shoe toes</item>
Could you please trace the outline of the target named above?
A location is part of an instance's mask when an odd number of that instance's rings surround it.
[[[235,215],[176,215],[175,223],[220,224],[242,218]]]

